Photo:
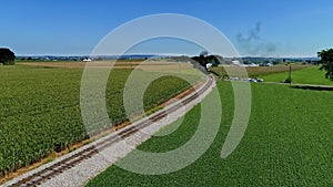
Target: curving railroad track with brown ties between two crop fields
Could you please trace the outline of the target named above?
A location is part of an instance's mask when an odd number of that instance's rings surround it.
[[[184,97],[184,100],[181,103],[174,104],[171,107],[167,110],[162,110],[160,112],[157,112],[149,116],[148,118],[139,122],[134,126],[125,127],[124,129],[120,129],[118,134],[114,134],[85,149],[82,149],[73,155],[71,155],[68,158],[64,158],[38,173],[34,173],[28,177],[24,177],[14,184],[9,185],[8,187],[27,187],[27,186],[39,186],[43,184],[47,180],[50,180],[51,178],[61,175],[63,172],[79,165],[85,159],[91,158],[92,156],[99,154],[99,152],[105,149],[107,147],[123,141],[124,138],[131,136],[134,133],[138,133],[140,129],[151,125],[154,122],[158,122],[159,120],[162,120],[168,114],[175,112],[183,105],[186,105],[188,103],[196,100],[202,93],[205,92],[212,84],[213,79],[209,76],[206,83],[204,86],[202,86],[198,92],[194,92],[193,94],[190,94],[190,96]]]

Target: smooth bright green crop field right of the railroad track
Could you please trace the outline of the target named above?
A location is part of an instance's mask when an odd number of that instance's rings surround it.
[[[333,186],[333,93],[286,85],[251,84],[252,112],[245,135],[226,159],[221,147],[233,116],[230,82],[218,84],[223,107],[219,134],[195,163],[168,175],[147,176],[112,166],[87,186]],[[306,101],[306,102],[304,102]],[[200,105],[171,135],[139,148],[171,150],[188,142],[199,123]],[[173,128],[176,123],[168,126]]]

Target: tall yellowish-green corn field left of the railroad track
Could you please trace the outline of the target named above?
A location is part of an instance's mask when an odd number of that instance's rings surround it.
[[[82,72],[81,69],[26,65],[0,67],[2,176],[88,138],[80,111]],[[128,121],[122,98],[124,83],[131,72],[112,70],[108,80],[105,100],[113,124]],[[199,81],[198,76],[189,76],[193,82]],[[155,80],[144,93],[144,110],[157,106],[189,86],[188,82],[175,76]]]

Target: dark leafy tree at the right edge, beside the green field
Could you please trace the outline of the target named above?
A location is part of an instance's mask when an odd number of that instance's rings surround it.
[[[333,80],[333,49],[322,50],[317,52],[317,56],[321,58],[321,70],[326,71],[326,79]]]

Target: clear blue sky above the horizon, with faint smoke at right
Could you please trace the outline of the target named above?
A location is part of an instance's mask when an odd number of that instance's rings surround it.
[[[206,21],[241,55],[315,56],[333,48],[332,0],[0,0],[0,46],[18,55],[89,54],[117,27],[155,13]],[[255,39],[245,43],[253,31]],[[133,52],[191,53],[173,48],[183,44],[163,40]]]

